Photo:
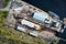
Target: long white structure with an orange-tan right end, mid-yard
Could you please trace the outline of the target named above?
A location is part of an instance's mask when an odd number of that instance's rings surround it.
[[[21,23],[24,24],[24,25],[28,25],[30,28],[34,28],[35,30],[41,30],[42,29],[41,25],[35,24],[33,22],[30,22],[28,20],[22,20]]]

